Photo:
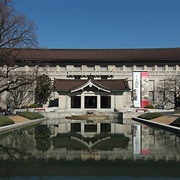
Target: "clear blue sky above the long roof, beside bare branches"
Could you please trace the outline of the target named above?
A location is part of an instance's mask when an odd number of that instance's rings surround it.
[[[14,0],[41,48],[180,47],[180,0]]]

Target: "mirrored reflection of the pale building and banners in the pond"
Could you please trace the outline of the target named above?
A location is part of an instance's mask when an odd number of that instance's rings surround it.
[[[179,161],[179,136],[145,125],[74,122],[3,135],[0,159]]]

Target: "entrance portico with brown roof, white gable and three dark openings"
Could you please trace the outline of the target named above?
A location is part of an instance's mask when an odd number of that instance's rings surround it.
[[[123,93],[129,90],[126,79],[54,81],[54,92],[57,92],[60,109],[119,109],[123,107]]]

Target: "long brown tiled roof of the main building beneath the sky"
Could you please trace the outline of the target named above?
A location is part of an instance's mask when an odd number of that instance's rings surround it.
[[[17,59],[26,60],[176,60],[180,48],[156,49],[21,49]]]

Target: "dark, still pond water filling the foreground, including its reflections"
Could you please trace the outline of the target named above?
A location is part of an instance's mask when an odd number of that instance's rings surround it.
[[[134,121],[42,124],[0,136],[0,179],[179,179],[180,136]]]

